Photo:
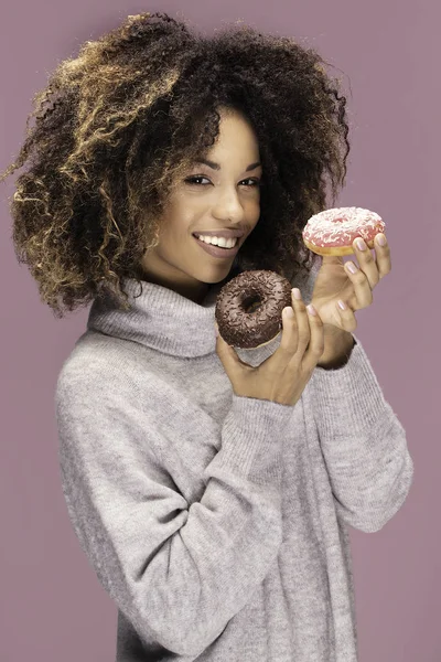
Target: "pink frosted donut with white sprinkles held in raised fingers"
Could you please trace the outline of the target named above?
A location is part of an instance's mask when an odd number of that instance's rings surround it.
[[[374,248],[374,237],[385,232],[385,222],[369,210],[335,207],[311,216],[303,229],[303,243],[319,255],[351,255],[352,243],[363,237]]]

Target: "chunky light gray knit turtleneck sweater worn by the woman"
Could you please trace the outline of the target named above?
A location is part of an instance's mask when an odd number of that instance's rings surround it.
[[[216,288],[197,305],[126,282],[131,310],[93,303],[55,396],[63,492],[118,609],[117,662],[355,662],[347,525],[379,531],[413,473],[359,339],[293,407],[238,397]],[[258,365],[279,343],[237,353]]]

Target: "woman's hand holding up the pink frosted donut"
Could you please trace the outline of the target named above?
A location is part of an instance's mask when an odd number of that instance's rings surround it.
[[[348,265],[354,261],[344,264],[342,256],[323,256],[311,303],[323,322],[325,333],[333,334],[337,329],[346,332],[355,331],[357,327],[355,311],[367,308],[373,302],[375,286],[391,269],[390,249],[387,242],[385,246],[379,244],[378,239],[381,237],[385,235],[378,234],[375,237],[375,258],[363,239],[365,249],[361,250],[357,247],[361,237],[354,241],[355,256],[359,264],[355,274],[352,274],[348,268]],[[344,310],[340,308],[338,301],[343,301]]]

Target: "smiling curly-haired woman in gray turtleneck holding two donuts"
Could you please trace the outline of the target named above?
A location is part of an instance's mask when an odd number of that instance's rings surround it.
[[[357,659],[347,525],[380,530],[413,467],[353,334],[390,249],[354,245],[352,274],[301,241],[346,172],[346,99],[323,64],[248,28],[208,40],[129,17],[58,66],[3,174],[32,158],[11,211],[42,300],[57,316],[93,300],[56,415],[118,662]],[[204,248],[220,233],[234,256]],[[254,268],[291,279],[293,314],[235,351],[215,299]]]

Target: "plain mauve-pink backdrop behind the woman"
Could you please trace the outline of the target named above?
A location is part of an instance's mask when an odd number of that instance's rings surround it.
[[[392,271],[357,333],[408,435],[411,493],[376,534],[351,530],[361,662],[441,661],[440,106],[437,0],[6,0],[0,21],[0,169],[24,138],[35,90],[60,60],[128,14],[166,11],[211,33],[238,19],[302,38],[341,70],[352,154],[342,206],[387,222]],[[335,72],[335,75],[338,72]],[[57,321],[14,257],[0,185],[0,660],[109,662],[116,607],[71,527],[54,388],[87,310]],[[87,656],[85,651],[92,651]],[[244,661],[246,662],[246,661]]]

